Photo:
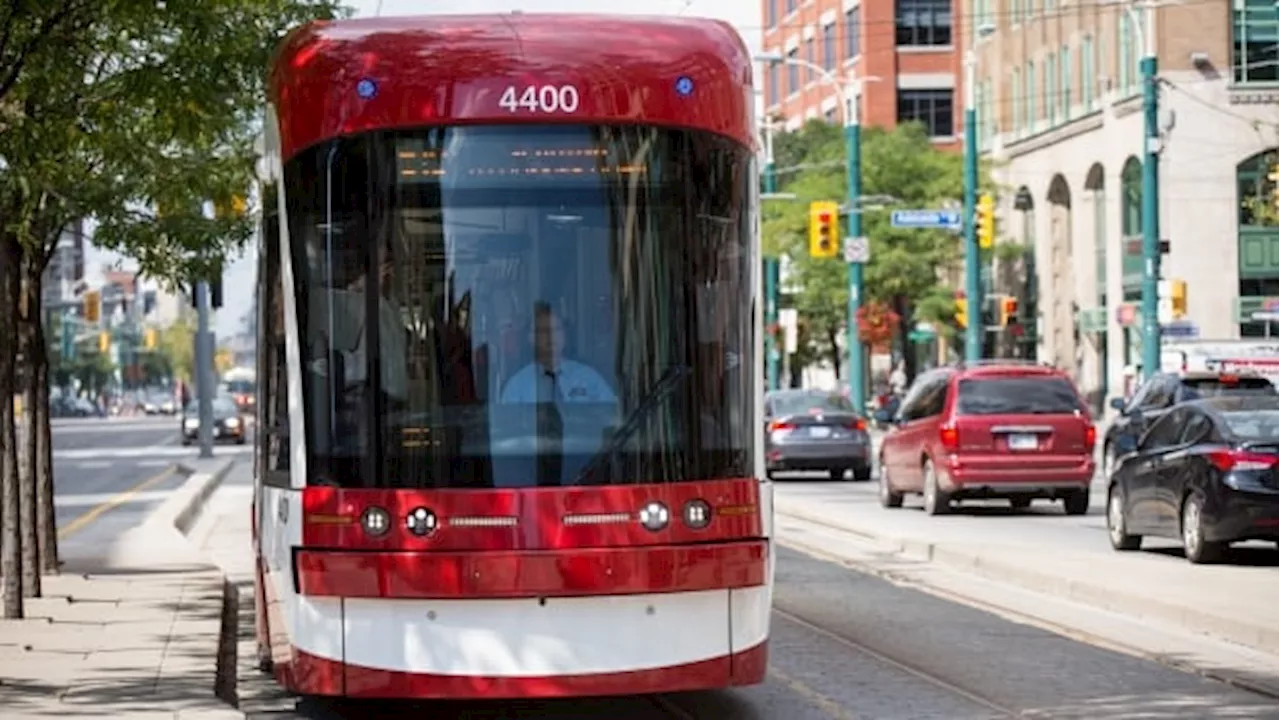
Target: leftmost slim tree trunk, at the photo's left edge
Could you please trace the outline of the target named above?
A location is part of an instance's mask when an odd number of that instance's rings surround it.
[[[10,240],[0,240],[0,337],[18,337],[18,290],[22,251]],[[5,619],[23,616],[22,534],[19,532],[18,447],[14,436],[13,396],[17,343],[0,342],[0,610]]]

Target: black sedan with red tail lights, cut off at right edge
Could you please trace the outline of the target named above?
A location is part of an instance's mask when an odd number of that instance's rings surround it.
[[[1179,405],[1116,460],[1107,534],[1116,550],[1143,536],[1181,539],[1192,562],[1233,542],[1280,538],[1280,397],[1213,397]]]

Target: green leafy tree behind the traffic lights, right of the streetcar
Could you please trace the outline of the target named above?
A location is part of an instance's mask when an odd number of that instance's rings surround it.
[[[782,173],[781,188],[796,202],[769,204],[764,214],[765,252],[791,261],[795,297],[806,318],[817,354],[840,368],[837,338],[846,325],[847,269],[840,259],[813,259],[808,252],[808,205],[814,200],[842,200],[847,188],[841,128],[810,120],[797,132],[774,140]],[[918,124],[892,131],[863,129],[863,193],[891,196],[900,206],[938,208],[963,195],[963,167],[957,155],[933,147]],[[787,172],[799,167],[799,172]],[[959,259],[952,233],[893,228],[888,210],[868,209],[863,233],[872,258],[864,270],[864,306],[882,306],[897,319],[895,332],[905,346],[914,319],[942,322],[954,313],[954,299],[938,282],[938,269]],[[892,316],[886,315],[886,316]],[[838,373],[838,370],[837,370]]]

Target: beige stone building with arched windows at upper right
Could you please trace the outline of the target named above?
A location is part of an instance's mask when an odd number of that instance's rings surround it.
[[[1280,296],[1280,228],[1251,211],[1276,190],[1275,1],[1167,4],[1155,27],[1128,4],[975,0],[966,13],[979,141],[1009,188],[998,234],[1034,247],[1039,357],[1103,396],[1121,392],[1126,366],[1142,360],[1148,32],[1160,67],[1161,274],[1188,283],[1185,318],[1165,320],[1204,340],[1275,336],[1253,314]]]

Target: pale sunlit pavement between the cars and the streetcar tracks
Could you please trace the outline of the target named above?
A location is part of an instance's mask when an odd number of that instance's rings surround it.
[[[1082,550],[1053,542],[1052,528],[1020,542],[964,541],[941,523],[934,533],[908,530],[905,518],[868,511],[867,498],[823,502],[776,497],[780,518],[792,516],[887,543],[897,555],[927,560],[1064,600],[1280,655],[1280,570],[1272,566],[1193,566],[1176,553],[1120,553],[1106,546]],[[947,537],[951,536],[951,537]]]

